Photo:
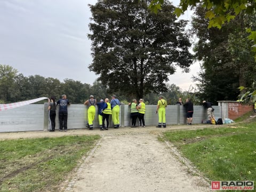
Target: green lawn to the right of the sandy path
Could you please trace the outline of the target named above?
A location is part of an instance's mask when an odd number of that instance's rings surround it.
[[[256,123],[236,125],[165,132],[164,138],[210,180],[255,180]]]

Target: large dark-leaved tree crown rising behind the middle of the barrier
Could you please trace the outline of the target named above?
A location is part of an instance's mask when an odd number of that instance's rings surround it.
[[[165,92],[168,76],[192,63],[185,33],[187,21],[177,20],[166,1],[156,15],[146,0],[99,0],[89,5],[93,22],[93,62],[89,69],[109,92],[142,98],[150,91]]]

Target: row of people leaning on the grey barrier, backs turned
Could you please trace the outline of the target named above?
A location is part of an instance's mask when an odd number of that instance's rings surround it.
[[[49,117],[50,117],[50,131],[55,131],[55,117],[56,117],[56,109],[57,106],[59,107],[59,122],[60,122],[60,129],[59,131],[67,131],[67,120],[68,120],[68,105],[70,105],[69,100],[65,94],[62,95],[62,98],[59,99],[57,102],[55,101],[55,97],[51,97],[49,99]],[[85,106],[88,106],[88,123],[86,125],[89,130],[93,130],[93,121],[95,118],[96,113],[96,106],[98,106],[98,117],[99,117],[99,126],[100,130],[108,130],[109,127],[109,115],[112,115],[112,121],[114,124],[114,128],[119,128],[119,110],[121,102],[116,98],[115,95],[111,97],[111,101],[106,98],[105,100],[101,99],[100,102],[94,98],[93,95],[90,95],[90,99],[84,102]],[[193,102],[190,99],[186,99],[186,102],[183,103],[182,99],[179,98],[177,101],[177,105],[183,105],[186,107],[186,117],[187,117],[187,124],[191,125],[193,121],[193,113],[194,107]],[[139,104],[137,103],[136,99],[133,99],[131,103],[131,127],[136,127],[137,118],[139,118],[140,127],[145,127],[145,119],[144,115],[146,112],[146,105],[143,102],[143,99],[139,100]],[[213,115],[213,103],[203,101],[203,106],[207,109],[207,116],[210,118],[210,122],[215,122],[215,118]],[[162,95],[158,97],[156,114],[158,114],[158,125],[156,127],[166,127],[166,119],[165,119],[165,108],[167,107],[167,101],[164,99]],[[105,125],[106,121],[106,125]]]

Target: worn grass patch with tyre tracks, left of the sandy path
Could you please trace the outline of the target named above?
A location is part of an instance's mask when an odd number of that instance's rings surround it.
[[[0,141],[0,191],[58,191],[99,135]]]

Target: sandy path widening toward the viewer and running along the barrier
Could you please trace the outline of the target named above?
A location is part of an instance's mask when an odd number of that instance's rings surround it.
[[[83,159],[73,178],[63,183],[66,192],[104,191],[211,191],[200,173],[169,142],[158,141],[167,130],[203,129],[216,125],[175,125],[164,128],[120,127],[68,132],[0,133],[0,139],[61,137],[100,134],[101,139]]]

